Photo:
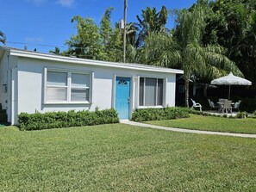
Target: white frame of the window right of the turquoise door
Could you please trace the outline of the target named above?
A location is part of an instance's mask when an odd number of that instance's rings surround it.
[[[144,78],[144,89],[143,89],[143,103],[144,105],[140,105],[140,78]],[[162,98],[162,105],[145,105],[145,87],[146,87],[146,78],[154,78],[156,79],[156,96],[155,96],[155,103],[157,104],[157,101],[158,101],[158,84],[159,84],[159,79],[162,79],[163,80],[163,98]],[[139,77],[139,80],[138,80],[138,108],[165,108],[165,77],[148,77],[148,76],[141,76]]]

